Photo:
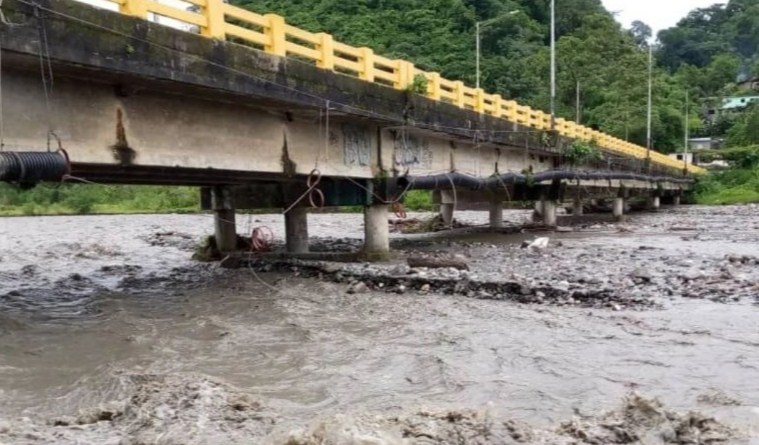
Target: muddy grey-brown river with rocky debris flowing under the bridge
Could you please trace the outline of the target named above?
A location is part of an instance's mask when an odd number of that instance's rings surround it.
[[[320,248],[362,236],[361,215],[309,223]],[[342,279],[196,263],[212,225],[0,219],[0,443],[759,444],[759,207],[393,234]],[[238,216],[258,226],[281,241],[281,216]],[[470,270],[404,266],[432,253]],[[443,273],[524,292],[414,288]]]

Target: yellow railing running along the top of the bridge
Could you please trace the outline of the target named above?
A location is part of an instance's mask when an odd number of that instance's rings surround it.
[[[82,0],[87,1],[87,0]],[[406,89],[418,75],[427,79],[426,96],[458,107],[485,113],[497,118],[536,129],[549,130],[550,116],[540,110],[519,105],[497,94],[471,88],[461,81],[444,79],[439,73],[421,71],[405,60],[391,60],[374,54],[370,48],[354,48],[335,41],[330,34],[311,33],[291,26],[276,14],[257,14],[222,0],[107,0],[128,15],[161,21],[167,17],[184,24],[183,29],[203,36],[233,40],[277,56],[295,56],[316,66],[352,75],[367,82]],[[565,119],[557,119],[556,130],[562,136],[595,140],[604,150],[625,157],[644,160],[644,147],[592,130]],[[651,151],[651,162],[663,167],[690,173],[704,170],[685,165],[661,153]]]

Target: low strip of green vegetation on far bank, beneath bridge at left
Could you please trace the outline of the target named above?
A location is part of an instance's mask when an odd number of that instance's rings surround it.
[[[0,184],[0,215],[196,212],[197,188],[41,184],[30,190]]]

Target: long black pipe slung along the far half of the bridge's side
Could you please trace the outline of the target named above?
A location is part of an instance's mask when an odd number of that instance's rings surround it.
[[[504,173],[493,175],[487,178],[479,178],[463,173],[451,172],[430,176],[404,176],[397,179],[398,187],[408,188],[409,190],[438,190],[450,189],[454,187],[467,188],[470,190],[484,190],[503,187],[504,185],[540,184],[554,180],[634,180],[649,183],[674,182],[679,184],[690,184],[693,182],[689,178],[676,178],[669,176],[651,176],[639,173],[621,172],[621,171],[574,171],[574,170],[550,170],[534,175],[525,175],[521,173]]]

